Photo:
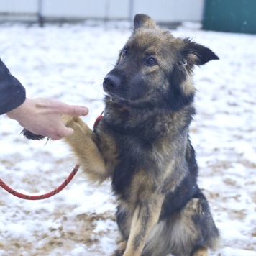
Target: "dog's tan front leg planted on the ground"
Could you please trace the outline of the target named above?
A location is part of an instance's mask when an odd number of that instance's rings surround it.
[[[147,235],[157,224],[164,197],[161,193],[148,193],[148,196],[136,206],[124,256],[139,256],[145,246]]]

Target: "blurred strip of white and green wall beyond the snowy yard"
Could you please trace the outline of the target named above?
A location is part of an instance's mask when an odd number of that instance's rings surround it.
[[[201,22],[203,29],[256,33],[255,0],[1,0],[0,21],[129,20],[145,13],[170,28]]]

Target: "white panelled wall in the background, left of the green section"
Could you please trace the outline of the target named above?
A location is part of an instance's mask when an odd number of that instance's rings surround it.
[[[42,0],[42,16],[56,19],[129,19],[137,13],[157,22],[201,21],[204,0]],[[37,0],[0,0],[1,12],[37,13]]]

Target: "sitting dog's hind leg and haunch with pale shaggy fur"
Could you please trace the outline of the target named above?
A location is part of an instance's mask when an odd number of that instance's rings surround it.
[[[208,256],[216,249],[219,232],[204,195],[191,198],[180,211],[158,222],[148,236],[142,255]]]

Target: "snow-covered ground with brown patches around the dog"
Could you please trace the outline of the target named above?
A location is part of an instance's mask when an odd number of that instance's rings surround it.
[[[191,24],[172,31],[194,37],[220,60],[195,70],[198,114],[191,138],[199,185],[221,232],[210,255],[256,255],[256,36],[205,32]],[[31,98],[88,106],[92,127],[104,109],[102,80],[130,35],[126,24],[1,24],[0,57]],[[0,178],[22,193],[46,193],[76,161],[61,141],[33,142],[0,116]],[[24,201],[0,188],[0,255],[111,255],[118,231],[109,183],[99,188],[78,172],[58,195]]]

